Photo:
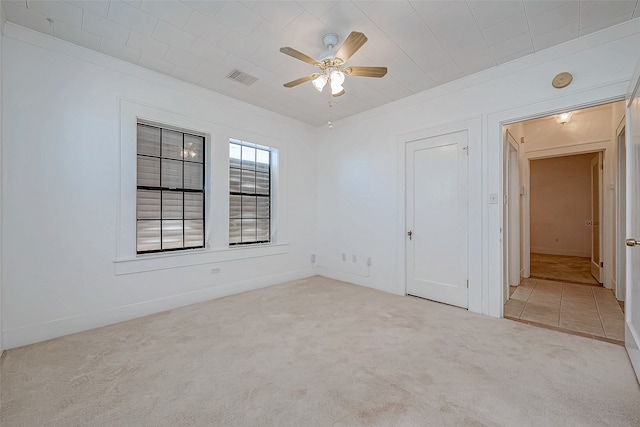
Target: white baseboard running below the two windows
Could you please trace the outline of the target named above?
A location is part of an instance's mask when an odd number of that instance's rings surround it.
[[[243,282],[229,283],[184,294],[172,295],[165,298],[124,305],[103,312],[85,313],[74,317],[55,319],[17,329],[5,329],[2,331],[2,348],[9,350],[28,344],[46,341],[52,338],[58,338],[102,326],[112,325],[114,323],[124,322],[150,314],[161,313],[178,307],[184,307],[255,289],[266,288],[268,286],[277,285],[291,280],[304,279],[317,274],[318,272],[311,268],[295,270],[283,274],[260,277],[258,279]]]

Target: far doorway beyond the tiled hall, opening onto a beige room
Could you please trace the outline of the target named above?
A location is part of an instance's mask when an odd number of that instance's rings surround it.
[[[601,283],[601,157],[596,152],[529,160],[530,277]]]

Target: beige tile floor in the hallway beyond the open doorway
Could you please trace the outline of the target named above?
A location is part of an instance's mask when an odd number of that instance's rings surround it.
[[[624,345],[624,314],[599,286],[522,279],[504,306],[506,318]]]

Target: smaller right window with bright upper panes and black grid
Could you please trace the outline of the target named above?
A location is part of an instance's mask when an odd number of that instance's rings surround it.
[[[271,241],[271,150],[229,142],[229,245]]]

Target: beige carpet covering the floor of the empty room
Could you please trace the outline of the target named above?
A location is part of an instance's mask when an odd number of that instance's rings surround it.
[[[9,350],[10,426],[638,426],[617,345],[313,277]]]

